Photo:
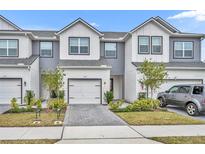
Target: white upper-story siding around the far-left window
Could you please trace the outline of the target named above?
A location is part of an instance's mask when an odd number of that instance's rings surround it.
[[[17,39],[19,40],[19,58],[28,58],[32,54],[32,41],[28,36],[23,35],[3,35],[0,39]]]

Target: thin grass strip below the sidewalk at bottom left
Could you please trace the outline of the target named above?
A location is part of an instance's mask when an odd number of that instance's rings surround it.
[[[0,144],[54,144],[59,140],[41,139],[41,140],[0,140]]]

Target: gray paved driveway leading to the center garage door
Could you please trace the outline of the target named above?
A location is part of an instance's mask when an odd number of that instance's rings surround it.
[[[69,105],[64,120],[66,126],[121,126],[121,118],[103,105]]]

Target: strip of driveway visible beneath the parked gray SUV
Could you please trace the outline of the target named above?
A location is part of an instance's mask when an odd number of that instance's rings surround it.
[[[175,112],[177,114],[187,116],[187,117],[191,117],[191,118],[194,118],[194,119],[197,119],[197,120],[205,120],[205,113],[201,113],[198,116],[189,116],[186,113],[186,110],[184,108],[177,107],[177,106],[172,106],[172,105],[168,105],[167,110],[170,111],[170,112]]]

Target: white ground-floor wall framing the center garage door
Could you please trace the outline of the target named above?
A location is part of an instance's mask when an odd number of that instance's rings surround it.
[[[110,69],[64,69],[65,100],[68,98],[68,78],[102,79],[102,101],[106,91],[110,90]]]

